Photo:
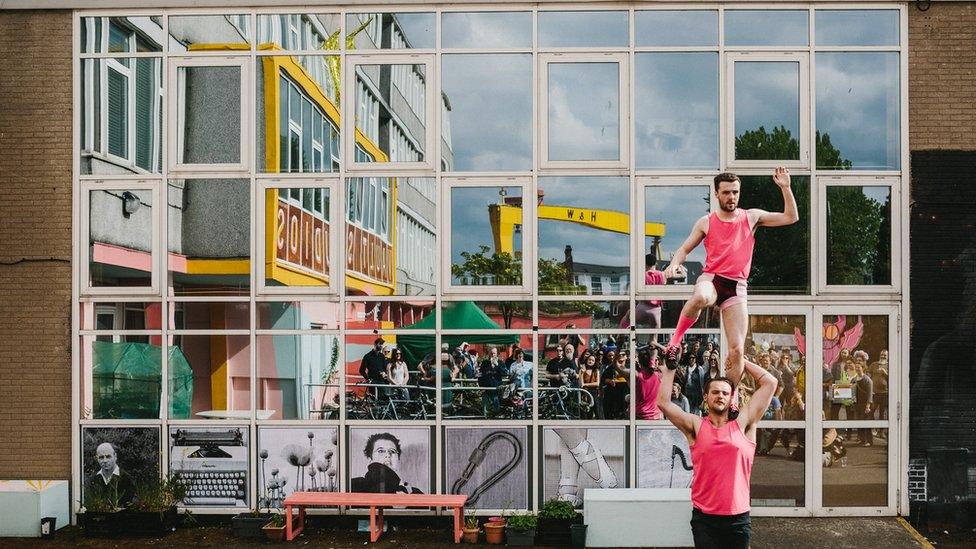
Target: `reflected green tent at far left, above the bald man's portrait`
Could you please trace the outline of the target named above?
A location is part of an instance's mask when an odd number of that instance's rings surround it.
[[[169,417],[190,417],[193,370],[178,347],[169,348]],[[148,343],[92,343],[92,417],[159,417],[162,353]]]

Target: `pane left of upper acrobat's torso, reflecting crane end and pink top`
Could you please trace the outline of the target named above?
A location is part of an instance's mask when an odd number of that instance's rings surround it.
[[[705,265],[705,248],[698,246],[685,259],[685,275],[664,279],[663,271],[684,244],[695,223],[710,208],[711,186],[644,187],[644,290],[658,284],[693,285]],[[657,271],[661,274],[657,274]]]

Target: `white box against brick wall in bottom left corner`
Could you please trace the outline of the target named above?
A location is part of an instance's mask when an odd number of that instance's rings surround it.
[[[69,504],[66,480],[0,480],[0,537],[39,538],[44,517],[67,526]]]

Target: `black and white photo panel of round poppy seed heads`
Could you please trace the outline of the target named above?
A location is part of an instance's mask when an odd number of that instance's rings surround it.
[[[258,428],[258,507],[281,509],[299,492],[339,490],[338,427]]]

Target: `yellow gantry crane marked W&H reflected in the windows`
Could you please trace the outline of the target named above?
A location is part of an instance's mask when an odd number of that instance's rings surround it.
[[[630,234],[630,215],[615,210],[598,210],[593,208],[577,208],[574,206],[549,206],[542,204],[542,193],[539,193],[539,205],[536,207],[539,219],[552,221],[566,221],[592,227],[601,231]],[[501,204],[488,205],[488,218],[491,221],[491,233],[495,241],[496,252],[514,253],[513,241],[517,228],[522,225],[522,198],[504,198]],[[661,239],[664,238],[665,225],[654,221],[644,223],[644,236],[654,239],[654,251],[661,257]]]

